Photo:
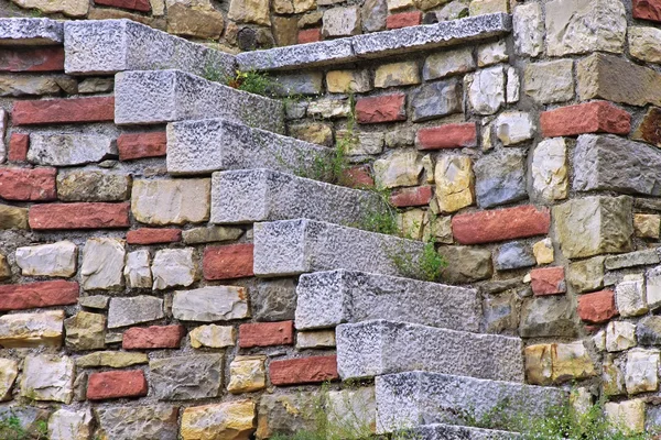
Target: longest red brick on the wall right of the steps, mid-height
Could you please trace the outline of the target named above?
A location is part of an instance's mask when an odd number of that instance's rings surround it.
[[[452,232],[460,244],[481,244],[543,235],[549,232],[548,208],[527,205],[453,217]]]

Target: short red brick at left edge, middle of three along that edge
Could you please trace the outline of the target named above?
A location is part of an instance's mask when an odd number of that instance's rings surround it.
[[[7,200],[55,200],[55,168],[0,168],[0,198]]]

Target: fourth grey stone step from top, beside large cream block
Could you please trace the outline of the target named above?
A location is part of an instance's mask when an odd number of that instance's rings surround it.
[[[212,217],[217,224],[306,218],[338,224],[364,224],[387,205],[375,193],[350,189],[271,169],[214,173]]]

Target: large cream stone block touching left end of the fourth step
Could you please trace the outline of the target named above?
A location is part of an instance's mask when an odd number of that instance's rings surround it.
[[[131,211],[136,220],[155,226],[198,223],[209,219],[209,179],[133,183]]]

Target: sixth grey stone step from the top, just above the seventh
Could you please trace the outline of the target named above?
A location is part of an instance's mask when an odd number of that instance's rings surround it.
[[[372,319],[477,332],[476,289],[353,271],[304,274],[296,287],[299,330]]]

